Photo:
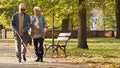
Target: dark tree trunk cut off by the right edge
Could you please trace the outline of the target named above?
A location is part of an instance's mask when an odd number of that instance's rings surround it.
[[[120,38],[120,0],[116,0],[116,38]]]

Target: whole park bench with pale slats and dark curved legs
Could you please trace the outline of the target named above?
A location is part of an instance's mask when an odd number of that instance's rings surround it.
[[[57,43],[56,44],[44,44],[45,46],[45,56],[47,51],[52,48],[52,55],[53,56],[54,52],[56,51],[57,55],[58,54],[58,49],[61,49],[64,53],[64,57],[66,57],[66,46],[67,42],[70,39],[71,33],[60,33],[57,37]]]

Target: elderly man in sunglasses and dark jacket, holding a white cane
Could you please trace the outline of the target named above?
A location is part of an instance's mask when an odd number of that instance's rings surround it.
[[[24,61],[26,61],[26,45],[28,44],[26,37],[28,36],[29,24],[30,16],[27,13],[25,13],[25,5],[20,4],[19,12],[13,14],[11,20],[11,27],[14,33],[16,44],[16,56],[18,58],[18,62],[21,62],[22,58]],[[21,39],[23,40],[23,42],[21,42]],[[22,43],[25,44],[23,44],[23,49],[21,47]]]

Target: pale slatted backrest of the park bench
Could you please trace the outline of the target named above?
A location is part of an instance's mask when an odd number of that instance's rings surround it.
[[[57,37],[58,43],[59,44],[61,41],[64,41],[65,45],[67,44],[68,40],[70,39],[71,33],[60,33]]]

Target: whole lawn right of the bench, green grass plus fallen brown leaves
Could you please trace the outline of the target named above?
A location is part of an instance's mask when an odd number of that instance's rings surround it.
[[[51,39],[45,39],[45,43],[51,43],[51,41]],[[88,38],[87,44],[89,49],[77,48],[77,43],[77,39],[69,40],[66,51],[66,58],[68,61],[75,63],[89,63],[92,64],[91,66],[93,66],[93,64],[104,66],[108,65],[108,67],[105,68],[120,67],[120,39]],[[49,50],[47,55],[50,54],[51,50]],[[62,55],[62,53],[60,54]]]

